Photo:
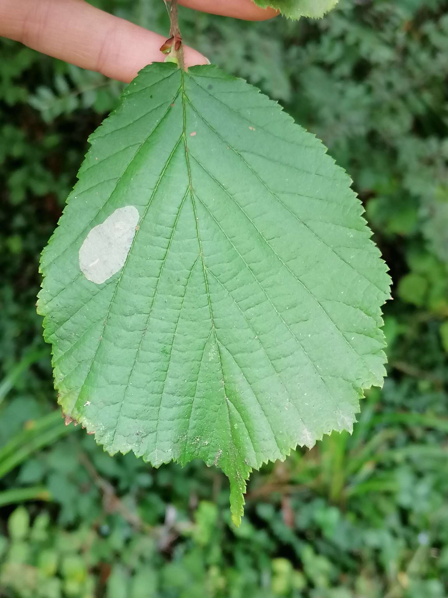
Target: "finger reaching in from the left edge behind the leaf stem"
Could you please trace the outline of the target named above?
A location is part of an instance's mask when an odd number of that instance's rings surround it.
[[[125,83],[165,59],[164,36],[84,0],[1,0],[0,35]],[[186,66],[208,62],[193,48],[185,47],[184,56]]]

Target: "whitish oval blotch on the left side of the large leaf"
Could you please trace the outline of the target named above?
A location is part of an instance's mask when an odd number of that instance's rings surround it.
[[[79,267],[87,280],[100,285],[122,269],[138,221],[137,208],[125,206],[92,228],[79,249]]]

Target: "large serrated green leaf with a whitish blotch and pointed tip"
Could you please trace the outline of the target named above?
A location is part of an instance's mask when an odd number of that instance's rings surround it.
[[[38,310],[59,402],[109,453],[231,481],[352,428],[382,385],[389,277],[350,179],[214,66],[146,67],[91,148]]]

